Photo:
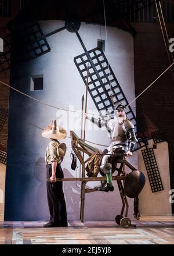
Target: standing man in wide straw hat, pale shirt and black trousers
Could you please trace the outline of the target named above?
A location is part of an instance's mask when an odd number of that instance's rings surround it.
[[[46,148],[46,182],[50,220],[44,227],[67,227],[66,202],[64,200],[63,182],[56,182],[56,178],[63,178],[63,170],[60,163],[66,154],[66,144],[58,140],[66,138],[66,130],[56,124],[56,120],[42,131],[42,137],[50,138]]]

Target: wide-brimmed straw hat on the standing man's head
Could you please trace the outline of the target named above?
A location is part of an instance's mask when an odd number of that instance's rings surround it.
[[[66,130],[60,126],[57,125],[56,120],[52,121],[52,125],[48,125],[44,131],[42,131],[42,137],[45,138],[53,138],[55,140],[63,140],[66,138],[67,132]]]

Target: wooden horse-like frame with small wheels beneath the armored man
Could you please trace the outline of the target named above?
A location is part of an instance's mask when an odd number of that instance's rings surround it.
[[[63,178],[63,179],[56,179],[56,181],[81,181],[81,210],[80,210],[80,219],[81,222],[84,222],[84,207],[85,207],[85,194],[97,191],[96,189],[86,189],[87,182],[93,181],[102,181],[107,180],[106,177],[86,177],[86,165],[88,161],[93,157],[95,154],[100,154],[101,151],[98,148],[92,147],[91,145],[86,144],[81,138],[74,133],[74,131],[70,131],[71,136],[71,146],[72,149],[77,155],[79,162],[82,165],[82,177],[78,178]],[[114,154],[113,154],[114,155]],[[115,154],[118,155],[118,154]],[[84,159],[87,156],[86,159]],[[115,222],[118,225],[121,225],[124,228],[128,228],[130,226],[136,227],[135,225],[131,225],[131,220],[127,217],[128,216],[128,200],[126,198],[126,194],[124,191],[124,180],[126,179],[126,170],[125,168],[128,167],[131,171],[136,170],[135,167],[131,165],[126,159],[119,159],[117,163],[120,163],[119,168],[117,168],[117,164],[114,167],[114,171],[117,170],[117,175],[112,177],[112,180],[117,180],[117,185],[119,189],[119,193],[122,200],[122,209],[121,214],[115,216]],[[49,181],[49,179],[48,179]],[[124,214],[125,212],[125,214]],[[124,217],[125,216],[125,217]]]

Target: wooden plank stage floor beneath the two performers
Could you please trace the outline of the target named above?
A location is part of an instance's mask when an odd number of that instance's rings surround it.
[[[70,221],[68,227],[44,228],[46,222],[0,222],[0,244],[174,244],[174,218],[141,218],[137,228],[113,221]]]

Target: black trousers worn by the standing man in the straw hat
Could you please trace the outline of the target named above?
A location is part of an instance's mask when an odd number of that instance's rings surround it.
[[[46,164],[46,179],[52,176],[52,165]],[[63,170],[59,163],[56,168],[56,178],[63,178]],[[50,213],[49,222],[55,224],[67,224],[67,209],[64,200],[63,182],[46,182],[48,207]]]

